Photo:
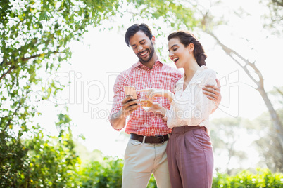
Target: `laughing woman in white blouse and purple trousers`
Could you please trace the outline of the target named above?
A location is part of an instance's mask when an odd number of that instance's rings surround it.
[[[217,105],[203,94],[206,84],[214,85],[216,76],[206,67],[206,54],[201,43],[189,32],[168,36],[169,56],[184,76],[177,81],[175,94],[169,90],[149,89],[148,98],[166,97],[170,110],[161,105],[151,112],[167,118],[172,133],[167,145],[172,187],[204,188],[212,186],[213,148],[208,135],[208,117]]]

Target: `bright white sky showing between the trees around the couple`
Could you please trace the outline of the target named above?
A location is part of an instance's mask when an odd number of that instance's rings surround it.
[[[225,41],[227,46],[232,46],[247,55],[246,57],[254,58],[256,55],[257,65],[265,78],[266,90],[271,90],[273,86],[282,86],[283,40],[275,36],[262,40],[262,36],[258,34],[260,22],[257,18],[253,20],[249,18],[241,22],[232,19],[231,22],[234,22],[232,29],[237,29],[237,35],[251,39],[250,46],[246,46],[246,43],[240,41],[237,36],[230,36],[231,28],[219,28],[220,39]],[[132,25],[131,22],[123,22],[123,24],[125,29]],[[151,27],[150,24],[149,26]],[[63,90],[62,100],[57,99],[57,101],[68,100],[70,117],[76,125],[73,133],[75,136],[82,134],[86,137],[86,140],[80,142],[89,150],[99,149],[103,154],[121,158],[127,140],[123,140],[124,137],[120,132],[111,128],[108,114],[112,107],[112,88],[116,76],[137,62],[136,55],[125,44],[125,29],[119,32],[115,27],[111,31],[101,32],[97,28],[91,29],[84,35],[84,43],[71,44],[73,57],[70,64],[63,65],[56,74],[49,77],[58,80],[58,76],[61,76],[62,83],[70,81],[70,87]],[[215,42],[209,36],[202,34],[200,40],[208,54],[208,67],[218,72],[218,79],[222,85],[222,103],[211,119],[237,116],[253,119],[264,112],[265,104],[259,93],[244,84],[251,82],[243,70],[228,58],[219,46],[215,46]],[[161,43],[157,38],[158,45]],[[256,53],[249,50],[251,46],[255,46]],[[163,54],[163,56],[167,55],[168,53]],[[171,63],[170,66],[175,65]],[[54,121],[59,112],[53,106],[53,102],[46,102],[42,107],[43,116],[39,120],[44,121],[51,132],[54,130]],[[60,107],[63,105],[59,105],[59,109]],[[250,141],[245,140],[245,142]]]

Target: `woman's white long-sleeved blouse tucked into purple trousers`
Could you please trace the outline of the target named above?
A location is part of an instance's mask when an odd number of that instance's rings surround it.
[[[209,115],[217,106],[203,94],[202,88],[216,84],[216,74],[212,69],[201,66],[183,91],[184,77],[177,81],[175,98],[170,110],[166,110],[168,128],[179,126],[205,126],[209,128]]]

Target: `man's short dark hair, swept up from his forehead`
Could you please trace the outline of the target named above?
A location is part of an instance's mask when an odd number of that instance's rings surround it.
[[[142,24],[134,24],[131,27],[127,29],[127,32],[125,34],[125,42],[127,43],[127,46],[130,46],[130,37],[134,36],[137,32],[142,31],[146,36],[149,37],[149,39],[152,38],[151,29],[148,25],[142,23]]]

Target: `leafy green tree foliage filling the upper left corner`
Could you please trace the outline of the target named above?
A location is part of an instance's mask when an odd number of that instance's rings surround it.
[[[118,8],[116,1],[0,1],[0,114],[1,131],[27,123],[37,104],[56,95],[61,86],[50,83],[45,93],[32,93],[45,72],[60,67],[70,58],[68,43],[80,40],[88,25],[99,25]],[[19,126],[20,125],[20,126]]]

